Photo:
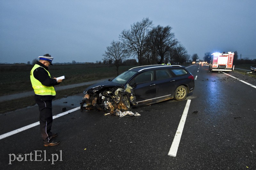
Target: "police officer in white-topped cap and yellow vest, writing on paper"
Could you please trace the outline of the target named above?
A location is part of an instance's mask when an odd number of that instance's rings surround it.
[[[62,79],[51,78],[48,67],[52,65],[53,57],[49,54],[38,57],[35,66],[30,71],[30,81],[35,92],[35,100],[39,107],[39,122],[44,146],[54,146],[60,141],[53,141],[57,133],[51,132],[52,127],[52,99],[56,92],[54,85],[60,84]]]

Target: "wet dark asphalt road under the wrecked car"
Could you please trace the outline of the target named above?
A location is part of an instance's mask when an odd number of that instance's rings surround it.
[[[188,70],[196,80],[185,101],[132,109],[138,117],[68,111],[83,94],[53,102],[54,115],[67,109],[53,120],[61,141],[53,147],[43,146],[39,125],[3,138],[38,122],[37,106],[1,115],[1,169],[256,169],[256,79]]]

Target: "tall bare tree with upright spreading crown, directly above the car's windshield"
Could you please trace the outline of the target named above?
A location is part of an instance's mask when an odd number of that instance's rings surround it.
[[[123,30],[119,35],[129,53],[137,56],[139,65],[142,65],[142,57],[146,52],[143,48],[152,26],[151,20],[143,18],[141,22],[131,25],[131,30]]]

